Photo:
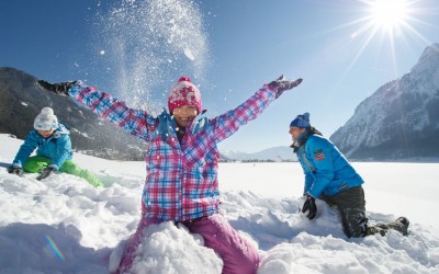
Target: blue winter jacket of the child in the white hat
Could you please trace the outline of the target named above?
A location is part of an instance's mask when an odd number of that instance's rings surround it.
[[[36,129],[33,129],[27,134],[24,144],[21,145],[12,164],[22,167],[36,148],[36,155],[50,159],[50,167],[58,170],[66,160],[72,158],[69,135],[70,132],[63,124],[58,124],[58,128],[47,138],[44,138]]]

